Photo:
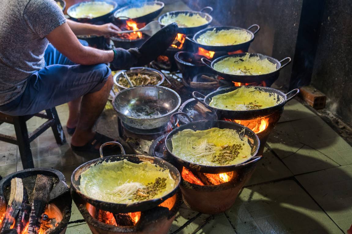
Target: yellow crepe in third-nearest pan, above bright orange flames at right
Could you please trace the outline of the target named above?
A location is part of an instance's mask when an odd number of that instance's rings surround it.
[[[242,86],[234,91],[214,96],[209,106],[231,111],[247,111],[276,106],[282,101],[282,98],[274,93]]]

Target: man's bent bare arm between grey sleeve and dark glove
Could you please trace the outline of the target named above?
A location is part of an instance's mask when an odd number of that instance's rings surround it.
[[[46,38],[59,52],[77,64],[94,65],[112,62],[114,59],[114,51],[112,50],[103,51],[83,46],[67,23],[55,28],[46,35]]]

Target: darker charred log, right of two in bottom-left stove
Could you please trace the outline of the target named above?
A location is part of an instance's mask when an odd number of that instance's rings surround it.
[[[38,234],[42,223],[47,199],[52,189],[52,179],[45,175],[37,175],[36,185],[33,189],[32,210],[29,218],[28,234]]]

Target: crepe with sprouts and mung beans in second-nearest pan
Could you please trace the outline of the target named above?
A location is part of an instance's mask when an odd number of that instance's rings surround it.
[[[172,136],[171,141],[173,154],[198,165],[235,165],[251,158],[248,139],[232,129],[185,129]]]

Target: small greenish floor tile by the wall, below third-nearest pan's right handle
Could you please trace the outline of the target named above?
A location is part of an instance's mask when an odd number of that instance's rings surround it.
[[[306,119],[316,116],[312,111],[305,107],[299,101],[292,99],[284,106],[284,113],[279,122],[292,121],[298,119]]]

